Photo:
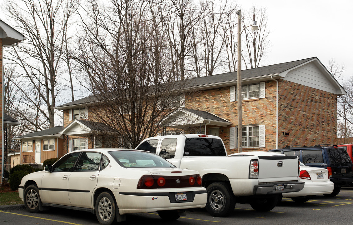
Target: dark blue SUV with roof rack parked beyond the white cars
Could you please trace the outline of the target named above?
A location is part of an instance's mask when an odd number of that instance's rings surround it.
[[[306,166],[327,168],[330,173],[330,180],[335,184],[335,188],[331,194],[325,196],[336,196],[340,193],[341,186],[348,186],[353,183],[352,160],[346,150],[337,147],[337,145],[286,146],[281,149],[269,150],[269,152],[297,155]]]

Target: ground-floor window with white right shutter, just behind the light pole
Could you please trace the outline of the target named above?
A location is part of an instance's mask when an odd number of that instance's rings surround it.
[[[241,129],[243,137],[242,145],[244,148],[265,147],[265,126],[264,125],[249,125],[243,126]],[[238,127],[235,128],[235,138],[238,140]],[[237,148],[238,148],[238,141]]]

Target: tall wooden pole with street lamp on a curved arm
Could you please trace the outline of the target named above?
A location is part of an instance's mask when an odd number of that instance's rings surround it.
[[[241,33],[249,26],[251,26],[252,32],[256,32],[259,26],[256,25],[256,20],[254,19],[252,25],[246,26],[241,30],[241,10],[238,10],[236,14],[238,15],[238,152],[243,152],[243,129],[241,122]]]

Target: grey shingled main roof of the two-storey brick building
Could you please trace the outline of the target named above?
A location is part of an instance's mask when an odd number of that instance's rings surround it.
[[[298,68],[307,63],[315,61],[316,66],[320,68],[324,76],[330,80],[330,83],[334,86],[337,95],[344,95],[346,91],[343,87],[336,81],[336,79],[330,74],[330,72],[325,68],[325,66],[317,59],[317,57],[311,57],[307,59],[301,59],[286,63],[273,64],[268,66],[257,67],[253,69],[241,70],[241,81],[243,84],[250,82],[261,82],[267,81],[269,79],[280,79],[285,78],[287,73],[294,68]],[[237,71],[221,73],[212,76],[197,77],[189,79],[190,82],[184,85],[185,89],[197,88],[197,89],[212,89],[226,86],[237,85]],[[68,102],[63,105],[57,106],[57,109],[72,108],[74,106],[82,106],[90,102],[98,100],[98,95],[91,95],[78,99],[76,101]]]

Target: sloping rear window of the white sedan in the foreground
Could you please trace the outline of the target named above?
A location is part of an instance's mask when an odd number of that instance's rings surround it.
[[[151,152],[136,150],[112,151],[109,154],[122,167],[172,167],[173,164]]]

